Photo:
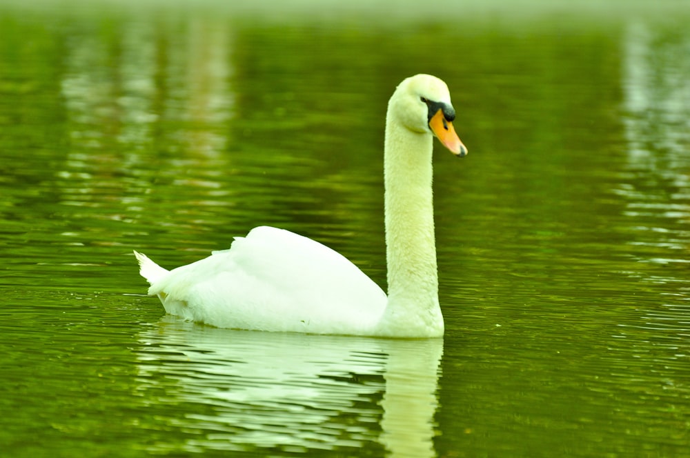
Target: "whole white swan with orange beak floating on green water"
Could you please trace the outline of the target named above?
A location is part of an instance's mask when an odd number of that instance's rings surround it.
[[[380,337],[441,337],[431,190],[432,137],[457,156],[446,83],[402,81],[388,101],[384,146],[388,297],[353,263],[287,230],[261,226],[229,250],[166,270],[135,251],[166,311],[219,328]]]

